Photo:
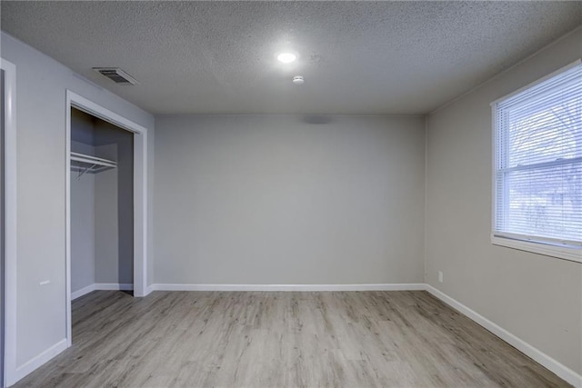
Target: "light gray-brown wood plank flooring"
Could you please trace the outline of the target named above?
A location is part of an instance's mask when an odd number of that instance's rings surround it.
[[[429,293],[98,291],[17,387],[567,386]]]

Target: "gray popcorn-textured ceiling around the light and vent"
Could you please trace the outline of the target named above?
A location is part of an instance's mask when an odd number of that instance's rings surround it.
[[[426,114],[582,24],[582,2],[0,6],[5,32],[154,114]]]

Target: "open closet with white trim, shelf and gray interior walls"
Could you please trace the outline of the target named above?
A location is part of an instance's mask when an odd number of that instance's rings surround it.
[[[67,91],[66,336],[96,290],[146,295],[146,128]]]

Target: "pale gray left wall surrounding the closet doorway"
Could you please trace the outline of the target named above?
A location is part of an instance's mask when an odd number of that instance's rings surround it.
[[[65,90],[145,126],[152,140],[154,118],[5,33],[0,43],[16,66],[16,366],[24,373],[65,339]]]

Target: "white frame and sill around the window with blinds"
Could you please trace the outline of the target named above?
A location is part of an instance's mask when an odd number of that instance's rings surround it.
[[[507,100],[508,98],[525,92],[538,84],[547,81],[557,75],[566,72],[578,65],[582,64],[581,59],[566,65],[557,71],[546,75],[533,83],[525,85],[516,91],[504,95],[497,100],[493,101],[491,106],[491,128],[492,128],[492,157],[491,157],[491,244],[504,246],[507,248],[513,248],[520,251],[526,251],[533,254],[543,254],[550,257],[555,257],[558,259],[564,259],[568,261],[573,261],[577,263],[582,263],[582,245],[573,245],[560,242],[556,239],[539,238],[536,236],[527,236],[521,234],[510,234],[503,233],[499,234],[496,232],[496,217],[497,217],[497,104],[501,101]]]

